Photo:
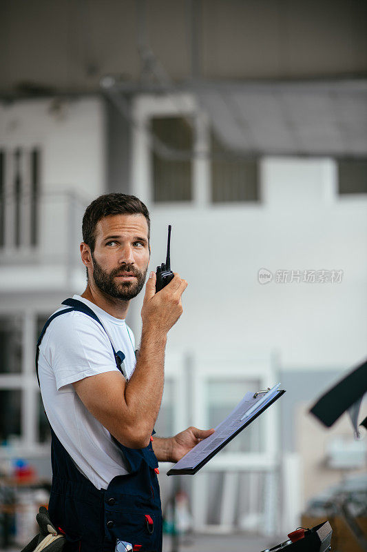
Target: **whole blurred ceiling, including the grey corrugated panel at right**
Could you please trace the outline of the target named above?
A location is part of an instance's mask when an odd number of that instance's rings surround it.
[[[193,92],[240,155],[364,156],[366,28],[365,0],[1,0],[0,97],[113,75]]]

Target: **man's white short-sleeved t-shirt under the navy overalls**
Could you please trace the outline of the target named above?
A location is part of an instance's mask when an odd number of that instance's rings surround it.
[[[61,444],[76,467],[97,489],[107,489],[116,475],[127,473],[125,457],[100,422],[87,411],[73,382],[118,371],[112,351],[122,351],[127,378],[135,368],[135,339],[125,320],[114,318],[87,299],[101,324],[71,311],[56,317],[43,336],[39,351],[39,381],[45,412]],[[59,311],[67,308],[63,306]],[[106,335],[108,334],[108,337]]]

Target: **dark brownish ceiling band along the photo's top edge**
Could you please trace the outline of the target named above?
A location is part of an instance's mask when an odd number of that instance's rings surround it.
[[[366,0],[1,0],[0,95],[174,83],[367,78]]]

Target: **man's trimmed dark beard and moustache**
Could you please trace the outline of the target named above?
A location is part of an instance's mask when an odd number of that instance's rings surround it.
[[[145,270],[140,272],[140,270],[136,270],[131,264],[123,264],[108,273],[106,270],[103,270],[98,262],[96,262],[93,253],[92,261],[94,282],[97,288],[105,293],[105,295],[114,297],[114,299],[129,301],[130,299],[134,299],[143,289],[148,266],[146,266]],[[136,280],[134,282],[116,282],[115,277],[122,272],[128,272],[132,276],[136,276]]]

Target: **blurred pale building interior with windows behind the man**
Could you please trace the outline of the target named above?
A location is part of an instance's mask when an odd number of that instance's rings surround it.
[[[366,2],[0,9],[1,472],[23,459],[50,478],[36,336],[83,292],[85,206],[132,193],[151,211],[151,268],[172,224],[189,282],[158,433],[215,426],[249,390],[287,391],[194,478],[162,466],[166,513],[180,487],[196,531],[288,533],[366,468],[346,419],[326,432],[306,414],[366,357]]]

